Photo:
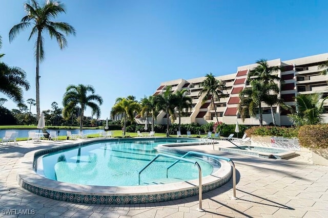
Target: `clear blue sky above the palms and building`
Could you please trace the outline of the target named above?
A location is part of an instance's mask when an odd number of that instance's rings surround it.
[[[27,73],[27,100],[35,99],[35,38],[27,40],[30,29],[11,43],[8,38],[25,15],[24,2],[0,1],[0,53],[6,54],[2,61]],[[106,119],[117,97],[140,100],[163,81],[236,73],[238,66],[260,58],[289,60],[327,52],[325,0],[61,2],[66,14],[56,21],[69,23],[77,34],[67,37],[64,50],[44,34],[42,111],[51,109],[53,101],[63,107],[69,84],[93,85],[104,99],[100,118]],[[17,108],[11,100],[4,106]]]

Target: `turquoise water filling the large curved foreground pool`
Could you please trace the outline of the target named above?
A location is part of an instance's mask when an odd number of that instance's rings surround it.
[[[84,185],[138,185],[138,172],[158,152],[158,144],[198,142],[199,139],[109,140],[94,142],[53,152],[38,158],[36,172],[52,180]],[[196,158],[190,157],[195,160]],[[166,169],[175,159],[158,158],[141,173],[140,185],[166,184],[198,179],[198,168],[191,163],[178,162]],[[202,176],[213,172],[213,165],[197,159]]]

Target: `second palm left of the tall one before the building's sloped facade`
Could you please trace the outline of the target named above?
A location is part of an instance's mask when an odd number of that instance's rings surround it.
[[[172,86],[168,86],[165,92],[162,95],[155,96],[155,102],[157,110],[163,110],[166,112],[166,119],[167,119],[167,130],[166,136],[169,137],[169,128],[170,128],[170,116],[172,119],[175,119],[174,115],[174,108],[176,107],[176,96],[171,92]]]

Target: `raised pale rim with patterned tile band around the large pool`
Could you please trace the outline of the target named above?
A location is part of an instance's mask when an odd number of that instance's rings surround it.
[[[147,138],[144,140],[149,140]],[[125,140],[125,139],[96,139],[97,141]],[[142,139],[140,139],[142,140]],[[33,166],[38,157],[52,151],[63,150],[70,147],[85,145],[90,142],[77,142],[67,146],[54,147],[28,152],[20,159],[17,181],[19,186],[42,197],[87,204],[140,204],[154,203],[182,199],[198,195],[198,179],[187,182],[178,182],[151,186],[92,186],[50,180],[38,175]],[[206,142],[205,142],[206,143]],[[177,146],[202,145],[204,142],[163,144],[159,145],[160,152],[170,154],[185,154]],[[232,176],[231,165],[227,161],[201,157],[209,162],[219,164],[221,167],[211,175],[202,178],[202,192],[211,191],[226,184]]]

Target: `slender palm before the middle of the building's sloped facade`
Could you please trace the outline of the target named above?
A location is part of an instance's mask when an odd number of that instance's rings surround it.
[[[227,94],[223,94],[223,90],[226,90],[226,83],[222,80],[217,80],[212,73],[206,75],[206,79],[201,82],[203,89],[200,91],[199,95],[205,95],[202,100],[202,104],[211,98],[211,104],[214,106],[216,121],[219,122],[216,113],[216,106],[214,103],[214,98],[220,101],[220,97],[227,97]]]

